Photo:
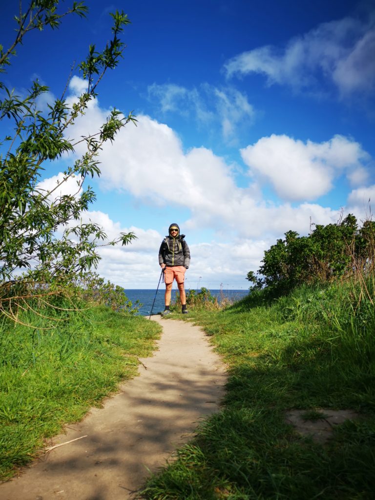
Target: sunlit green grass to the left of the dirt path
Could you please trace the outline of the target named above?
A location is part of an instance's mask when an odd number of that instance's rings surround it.
[[[160,327],[143,317],[97,307],[57,312],[53,329],[34,314],[33,327],[0,324],[0,478],[27,464],[47,437],[81,419],[90,406],[137,372]]]

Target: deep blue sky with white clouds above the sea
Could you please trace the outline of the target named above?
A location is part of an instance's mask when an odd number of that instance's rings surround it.
[[[103,276],[155,287],[158,247],[177,222],[191,249],[187,288],[245,289],[285,231],[307,234],[341,209],[365,218],[375,198],[372,1],[86,3],[86,19],[29,33],[3,79],[22,91],[37,76],[59,96],[73,61],[108,38],[108,12],[128,14],[123,60],[69,130],[95,130],[113,106],[138,118],[103,149],[97,201],[83,215],[109,235],[138,236],[101,250]],[[17,5],[0,7],[4,46]],[[75,71],[70,99],[82,85]],[[45,171],[46,186],[63,163]]]

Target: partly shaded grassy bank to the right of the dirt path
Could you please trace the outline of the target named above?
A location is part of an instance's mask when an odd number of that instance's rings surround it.
[[[371,286],[371,283],[368,283]],[[375,312],[350,282],[191,310],[229,365],[219,413],[146,484],[147,500],[370,499],[375,490]],[[185,318],[183,318],[185,319]],[[353,409],[326,444],[285,422]]]

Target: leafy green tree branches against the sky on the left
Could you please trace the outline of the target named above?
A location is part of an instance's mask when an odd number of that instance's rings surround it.
[[[10,64],[15,47],[23,43],[28,31],[45,26],[55,29],[65,15],[84,17],[87,13],[83,2],[73,2],[65,11],[59,9],[60,4],[58,0],[32,0],[26,10],[19,12],[13,44],[6,50],[0,46],[0,71]],[[96,133],[75,141],[68,138],[69,127],[96,97],[95,88],[103,74],[122,57],[125,45],[119,35],[130,21],[123,12],[116,11],[111,17],[112,38],[102,50],[89,45],[87,58],[78,64],[87,78],[87,91],[72,104],[68,105],[63,96],[53,99],[48,87],[37,80],[23,95],[0,82],[0,119],[6,119],[7,128],[10,125],[13,129],[12,135],[0,140],[7,146],[0,156],[0,294],[1,287],[14,279],[20,268],[28,269],[30,280],[47,277],[50,282],[67,284],[77,272],[97,265],[99,244],[125,245],[136,237],[129,232],[108,240],[99,225],[81,221],[82,211],[95,200],[95,193],[91,187],[85,187],[85,180],[87,176],[100,175],[98,154],[102,145],[108,140],[112,142],[126,123],[135,123],[135,117],[113,109]],[[46,106],[40,107],[41,100]],[[81,157],[66,168],[55,185],[42,188],[41,173],[50,162],[74,152],[81,142],[86,146]],[[65,184],[69,185],[66,193],[62,190]]]

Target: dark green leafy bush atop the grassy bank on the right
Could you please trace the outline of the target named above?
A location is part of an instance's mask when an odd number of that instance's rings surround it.
[[[348,214],[336,224],[316,225],[308,236],[287,231],[264,252],[256,278],[252,271],[247,279],[255,288],[286,293],[302,283],[330,281],[338,276],[366,270],[375,257],[375,222],[367,220],[358,228],[357,220]]]

